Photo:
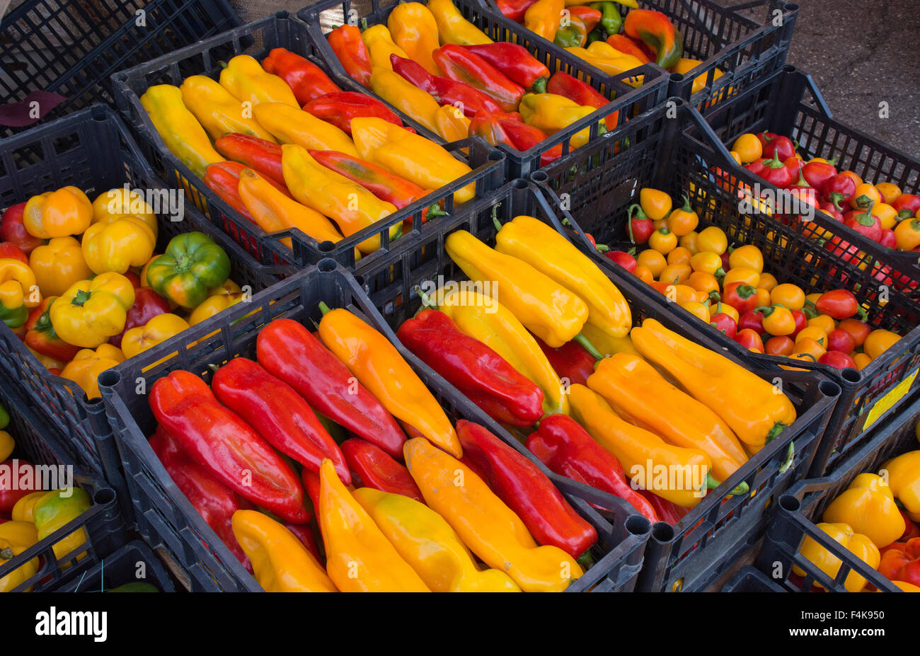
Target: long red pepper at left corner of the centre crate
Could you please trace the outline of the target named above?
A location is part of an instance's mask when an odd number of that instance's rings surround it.
[[[492,419],[533,426],[543,416],[543,390],[443,312],[423,310],[399,327],[397,338]]]

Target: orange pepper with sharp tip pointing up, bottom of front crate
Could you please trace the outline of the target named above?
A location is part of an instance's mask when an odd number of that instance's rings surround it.
[[[351,496],[330,460],[319,468],[318,501],[326,570],[341,592],[431,592]]]

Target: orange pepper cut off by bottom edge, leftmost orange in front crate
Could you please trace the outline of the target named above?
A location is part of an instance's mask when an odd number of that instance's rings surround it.
[[[236,511],[230,520],[236,542],[267,593],[337,593],[313,554],[291,531],[258,511]]]

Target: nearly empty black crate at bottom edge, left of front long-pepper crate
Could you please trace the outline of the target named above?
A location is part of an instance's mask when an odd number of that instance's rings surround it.
[[[55,590],[56,593],[109,593],[128,583],[150,583],[161,593],[175,593],[176,588],[163,564],[150,547],[132,540],[79,579]],[[153,591],[150,591],[153,592]]]

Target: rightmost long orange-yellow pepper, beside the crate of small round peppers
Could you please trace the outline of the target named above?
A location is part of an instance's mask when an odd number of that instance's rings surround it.
[[[646,319],[631,337],[639,353],[716,412],[742,443],[763,446],[796,420],[796,409],[774,386],[715,351]]]

